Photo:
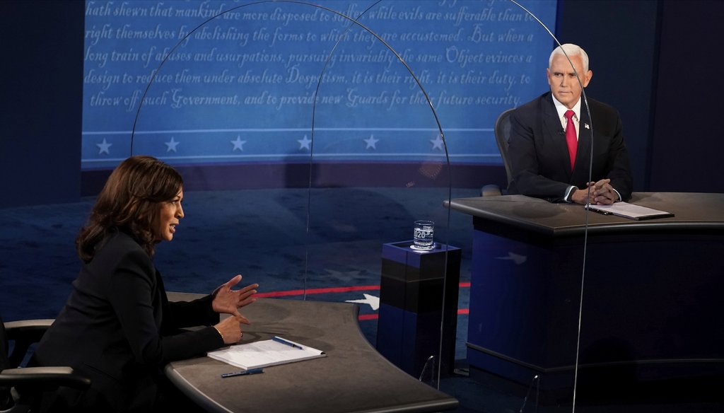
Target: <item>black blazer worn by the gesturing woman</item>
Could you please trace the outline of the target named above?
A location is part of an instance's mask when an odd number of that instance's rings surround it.
[[[193,314],[195,309],[199,314]],[[210,312],[209,298],[169,305],[151,258],[130,235],[117,231],[81,267],[65,306],[35,349],[34,362],[72,366],[91,377],[86,396],[92,397],[80,399],[87,411],[130,406],[151,411],[160,367],[224,346],[213,327],[179,331],[165,326],[210,323]]]

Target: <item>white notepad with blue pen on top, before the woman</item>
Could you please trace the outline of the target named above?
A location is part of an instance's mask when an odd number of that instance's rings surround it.
[[[237,344],[224,349],[209,351],[206,355],[212,359],[240,367],[243,370],[301,362],[302,360],[327,356],[324,351],[285,338]]]

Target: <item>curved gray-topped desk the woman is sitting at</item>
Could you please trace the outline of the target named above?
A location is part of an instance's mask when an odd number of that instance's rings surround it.
[[[169,293],[169,300],[201,296]],[[458,406],[384,359],[359,330],[356,304],[257,299],[242,313],[251,321],[243,326],[243,343],[279,335],[327,356],[227,378],[222,373],[239,368],[206,356],[167,364],[169,380],[208,412],[439,412]]]

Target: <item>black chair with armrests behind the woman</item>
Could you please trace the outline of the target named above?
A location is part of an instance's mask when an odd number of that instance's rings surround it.
[[[71,367],[22,367],[28,349],[37,343],[53,320],[3,322],[0,318],[0,411],[35,412],[43,392],[60,387],[83,391],[90,379]],[[9,342],[13,342],[12,352]]]

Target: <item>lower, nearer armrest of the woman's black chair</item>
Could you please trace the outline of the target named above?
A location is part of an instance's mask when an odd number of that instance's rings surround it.
[[[71,367],[23,367],[0,371],[0,386],[28,386],[43,390],[64,386],[83,390],[90,386],[90,378]]]

